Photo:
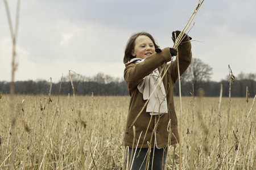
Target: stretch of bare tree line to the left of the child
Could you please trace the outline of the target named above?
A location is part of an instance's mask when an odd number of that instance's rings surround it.
[[[72,87],[73,83],[73,87]],[[119,78],[98,73],[92,78],[86,76],[72,75],[72,83],[69,75],[57,83],[51,83],[46,80],[28,80],[17,81],[14,83],[15,94],[29,95],[72,95],[73,88],[76,95],[109,95],[109,96],[126,96],[129,95],[124,81]],[[10,82],[0,82],[0,91],[2,94],[9,94]]]

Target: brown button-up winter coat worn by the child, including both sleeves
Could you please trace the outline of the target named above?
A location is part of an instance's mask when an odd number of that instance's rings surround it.
[[[189,41],[189,39],[183,41],[184,42],[182,42],[178,46],[180,75],[182,75],[185,70],[187,70],[192,58],[191,42]],[[150,143],[151,147],[154,147],[155,144],[157,148],[162,148],[168,145],[174,145],[175,143],[179,142],[179,133],[177,130],[177,117],[174,109],[173,94],[174,84],[178,79],[177,60],[170,63],[171,66],[169,67],[166,75],[164,75],[163,78],[163,84],[167,96],[168,113],[162,114],[162,116],[150,116],[150,113],[147,113],[146,107],[144,107],[142,113],[134,122],[135,118],[137,117],[139,112],[141,112],[144,104],[146,103],[146,100],[143,100],[143,96],[137,88],[138,84],[141,83],[142,79],[145,76],[149,75],[156,68],[158,68],[159,73],[161,73],[161,70],[163,69],[163,64],[167,63],[168,61],[171,61],[170,51],[169,48],[164,48],[162,52],[152,54],[150,57],[144,59],[144,61],[141,63],[126,63],[124,78],[131,98],[129,113],[126,122],[125,146],[133,146],[133,125],[135,126],[135,146],[137,145],[141,132],[142,135],[139,139],[138,147],[148,148],[148,143]],[[161,75],[163,75],[163,73]],[[170,120],[171,131],[168,132],[168,122]],[[172,134],[170,143],[168,143],[169,133]]]

